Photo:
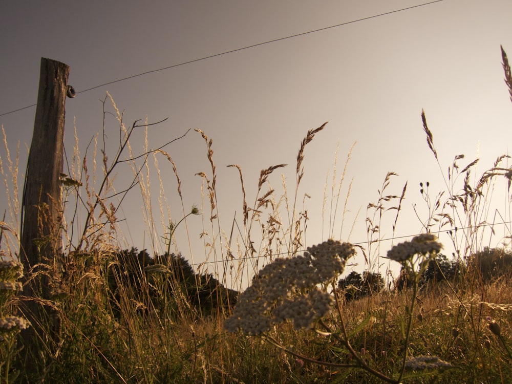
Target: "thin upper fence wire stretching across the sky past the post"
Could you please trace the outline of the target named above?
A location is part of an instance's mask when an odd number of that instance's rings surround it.
[[[273,39],[273,40],[267,40],[267,41],[259,42],[257,44],[252,44],[252,45],[248,45],[248,46],[245,46],[245,47],[236,48],[236,49],[232,49],[232,50],[229,50],[229,51],[224,51],[224,52],[216,53],[216,54],[209,55],[209,56],[203,56],[203,57],[200,57],[200,58],[197,58],[197,59],[193,59],[193,60],[183,61],[183,62],[174,64],[174,65],[170,65],[170,66],[167,66],[167,67],[163,67],[163,68],[159,68],[159,69],[154,69],[154,70],[151,70],[151,71],[145,71],[145,72],[138,73],[136,75],[127,76],[127,77],[123,77],[121,79],[105,82],[105,83],[99,84],[97,86],[94,86],[94,87],[91,87],[91,88],[88,88],[88,89],[84,89],[82,91],[78,91],[78,92],[76,92],[76,94],[92,91],[92,90],[100,88],[100,87],[104,87],[104,86],[108,86],[110,84],[114,84],[114,83],[117,83],[117,82],[133,79],[135,77],[147,75],[147,74],[150,74],[150,73],[160,72],[160,71],[164,71],[164,70],[167,70],[167,69],[176,68],[176,67],[184,66],[184,65],[187,65],[187,64],[191,64],[191,63],[194,63],[194,62],[198,62],[198,61],[202,61],[202,60],[206,60],[206,59],[211,59],[213,57],[218,57],[218,56],[222,56],[222,55],[227,55],[229,53],[234,53],[234,52],[239,52],[239,51],[243,51],[243,50],[250,49],[250,48],[259,47],[259,46],[262,46],[262,45],[265,45],[265,44],[270,44],[272,42],[287,40],[287,39],[291,39],[291,38],[294,38],[294,37],[299,37],[299,36],[304,36],[304,35],[308,35],[308,34],[311,34],[311,33],[321,32],[321,31],[325,31],[325,30],[328,30],[328,29],[332,29],[332,28],[343,27],[343,26],[346,26],[346,25],[349,25],[349,24],[359,23],[359,22],[362,22],[362,21],[365,21],[365,20],[369,20],[369,19],[372,19],[372,18],[390,15],[392,13],[407,11],[407,10],[410,10],[410,9],[413,9],[413,8],[418,8],[418,7],[424,7],[424,6],[427,6],[427,5],[434,4],[434,3],[440,3],[442,1],[444,1],[444,0],[434,0],[434,1],[431,1],[431,2],[428,2],[428,3],[417,4],[417,5],[406,7],[406,8],[396,9],[396,10],[393,10],[393,11],[379,13],[379,14],[372,15],[372,16],[362,17],[362,18],[359,18],[359,19],[351,20],[350,22],[339,23],[339,24],[332,25],[332,26],[329,26],[329,27],[323,27],[323,28],[318,28],[318,29],[314,29],[314,30],[311,30],[311,31],[307,31],[307,32],[296,33],[296,34],[293,34],[293,35],[289,35],[289,36],[285,36],[285,37],[279,37],[279,38],[276,38],[276,39]],[[18,108],[16,110],[12,110],[12,111],[9,111],[9,112],[4,112],[4,113],[0,114],[0,116],[5,116],[5,115],[9,115],[11,113],[19,112],[19,111],[31,108],[32,106],[35,106],[35,105],[37,105],[37,104],[31,104],[31,105],[24,106],[23,108]]]

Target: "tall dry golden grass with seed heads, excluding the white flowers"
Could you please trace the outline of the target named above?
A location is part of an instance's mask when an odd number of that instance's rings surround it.
[[[512,75],[503,50],[502,59],[512,99]],[[261,170],[251,198],[246,193],[249,189],[242,167],[229,165],[240,178],[242,222],[235,218],[225,228],[220,216],[229,218],[231,213],[218,208],[214,140],[200,130],[185,133],[196,134],[204,141],[209,164],[208,170],[197,175],[202,179],[201,204],[188,207],[182,194],[180,169],[171,156],[170,144],[181,138],[152,149],[147,144],[150,123],[135,122],[127,127],[110,95],[103,105],[102,132],[86,146],[83,155],[75,140],[61,180],[65,204],[61,223],[63,252],[58,263],[48,262],[44,269],[51,297],[26,297],[23,292],[12,295],[12,287],[18,287],[14,283],[5,283],[0,289],[5,298],[0,301],[2,318],[22,318],[18,307],[24,301],[51,308],[48,313],[55,317],[38,319],[34,356],[24,354],[27,349],[23,344],[16,347],[11,329],[0,326],[3,382],[510,382],[512,289],[508,276],[489,283],[482,279],[477,264],[470,262],[485,247],[510,246],[508,225],[503,225],[505,229],[496,239],[498,228],[503,228],[498,224],[510,221],[512,170],[508,156],[499,156],[492,168],[474,176],[478,160],[464,162],[464,157],[457,155],[444,174],[445,166],[435,147],[435,129],[429,127],[422,112],[427,145],[445,185],[432,193],[429,183],[421,184],[420,198],[428,214],[423,217],[419,210],[415,212],[425,233],[436,234],[445,250],[453,248],[459,268],[457,277],[420,288],[418,276],[436,252],[417,252],[400,260],[403,273],[408,273],[415,283],[411,288],[393,289],[391,281],[382,292],[345,302],[343,292],[336,288],[336,276],[319,285],[332,298],[332,311],[311,328],[276,322],[262,335],[250,336],[224,328],[225,319],[236,308],[236,298],[229,295],[228,288],[245,290],[255,284],[254,279],[265,278],[264,266],[283,256],[286,260],[302,257],[306,247],[312,245],[306,237],[310,214],[304,204],[307,193],[302,191],[301,181],[307,172],[307,145],[321,140],[327,123],[309,130],[301,142],[292,187],[286,185],[283,176],[276,175],[285,164],[270,165]],[[111,129],[111,116],[119,145],[113,156],[107,156],[105,133]],[[135,130],[145,130],[141,148],[131,141]],[[15,160],[11,158],[5,132],[4,144],[6,157],[0,159],[0,173],[9,215],[1,223],[0,245],[4,258],[16,259],[20,237],[19,154]],[[326,178],[321,212],[326,227],[324,240],[338,237],[338,226],[342,238],[346,228],[352,181],[344,203],[340,203],[340,191],[351,153],[352,148],[339,181],[336,153],[330,194]],[[114,175],[126,166],[132,170],[133,178],[122,185]],[[176,203],[172,207],[169,203],[162,174],[176,178],[178,215],[174,213]],[[158,185],[156,199],[151,183],[154,175]],[[400,186],[401,194],[389,192],[395,175],[385,175],[376,202],[368,204],[367,242],[356,245],[357,252],[365,257],[367,269],[386,276],[390,276],[390,266],[395,261],[393,252],[389,259],[382,259],[390,247],[385,247],[381,233],[385,232],[383,228],[391,228],[392,237],[395,236],[404,199],[410,194],[408,183]],[[279,182],[278,191],[272,184]],[[506,199],[502,208],[495,210],[495,191],[500,185]],[[150,234],[147,248],[151,260],[143,252],[134,257],[136,252],[122,251],[136,246],[120,240],[118,219],[126,195],[135,190],[139,191],[146,232]],[[192,249],[197,238],[189,226],[196,215],[202,218],[205,263],[190,272],[179,258],[180,250],[185,248],[177,244],[186,244],[189,262],[196,265]],[[177,227],[184,227],[185,243],[177,238]],[[350,233],[353,227],[354,224]],[[396,240],[392,245],[395,243]],[[30,279],[33,271],[24,273]],[[2,283],[13,282],[19,276],[0,277]],[[256,285],[264,284],[263,280]],[[11,288],[7,291],[6,287]],[[204,295],[205,287],[209,295]],[[314,289],[317,288],[310,287],[309,292]],[[289,297],[307,294],[308,290],[296,289],[290,291]],[[213,302],[217,305],[206,310]],[[271,315],[278,305],[271,303],[265,315]]]

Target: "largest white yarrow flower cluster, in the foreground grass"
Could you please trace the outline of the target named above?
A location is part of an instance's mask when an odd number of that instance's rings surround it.
[[[304,255],[274,260],[240,295],[224,328],[260,335],[286,320],[292,321],[295,329],[311,327],[333,304],[331,295],[315,286],[342,273],[345,261],[354,253],[351,244],[328,240],[308,248]]]

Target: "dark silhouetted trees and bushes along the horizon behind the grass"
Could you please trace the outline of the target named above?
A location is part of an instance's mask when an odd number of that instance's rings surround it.
[[[181,254],[167,252],[151,257],[144,249],[132,247],[113,255],[108,267],[108,283],[114,308],[120,310],[123,300],[138,303],[141,311],[151,308],[161,310],[163,306],[175,306],[179,300],[196,310],[209,315],[219,309],[234,306],[238,292],[225,288],[212,274],[198,274]],[[484,248],[473,254],[463,265],[449,260],[439,253],[421,275],[420,288],[442,282],[457,284],[461,268],[471,273],[482,283],[489,283],[512,274],[512,251],[502,248]],[[401,290],[412,286],[409,276],[402,270],[394,282]],[[385,280],[380,273],[352,271],[337,284],[347,301],[381,292]],[[169,297],[173,300],[169,302]]]

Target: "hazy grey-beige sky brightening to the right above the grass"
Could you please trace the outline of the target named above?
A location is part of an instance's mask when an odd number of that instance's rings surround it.
[[[392,244],[422,231],[413,209],[416,204],[420,218],[428,217],[420,182],[429,181],[434,200],[446,189],[443,175],[456,155],[466,155],[460,160],[462,167],[480,159],[477,173],[472,174],[475,177],[509,151],[512,105],[503,81],[500,45],[512,54],[512,2],[443,0],[414,7],[422,3],[426,2],[52,1],[44,6],[36,1],[3,2],[0,123],[11,156],[16,145],[20,146],[19,183],[23,184],[35,106],[5,113],[37,102],[40,58],[46,57],[70,66],[69,84],[77,92],[75,98],[66,100],[69,159],[75,127],[82,157],[101,131],[102,100],[107,92],[123,111],[128,127],[136,120],[167,119],[148,129],[148,148],[158,148],[186,133],[163,149],[176,164],[185,213],[204,201],[205,219],[187,218],[188,238],[180,224],[173,244],[195,265],[215,258],[205,252],[204,238],[200,239],[201,232],[211,234],[214,229],[203,227],[203,223],[208,225],[208,201],[202,197],[206,193],[201,189],[203,180],[196,174],[204,172],[211,179],[211,169],[205,142],[194,129],[212,140],[219,215],[215,230],[229,236],[233,218],[239,225],[243,219],[238,170],[227,165],[240,165],[249,206],[255,199],[260,170],[272,165],[288,164],[269,177],[276,195],[282,195],[281,175],[288,193],[293,194],[301,141],[308,130],[326,121],[324,131],[305,151],[297,198],[298,210],[308,210],[304,245],[330,237],[329,220],[322,218],[326,180],[330,194],[336,151],[339,181],[355,143],[340,190],[343,206],[352,181],[344,227],[340,229],[343,209],[338,208],[334,238],[366,246],[365,219],[373,217],[367,206],[377,201],[386,174],[394,172],[397,175],[386,192],[400,196],[406,182],[408,188],[395,233],[396,211],[386,212],[380,227],[378,236],[395,237],[382,243],[386,249],[380,255],[385,255]],[[410,9],[398,11],[405,8]],[[324,29],[335,25],[340,26]],[[303,34],[314,30],[320,31]],[[293,35],[299,36],[282,39]],[[254,47],[239,50],[248,46]],[[218,55],[229,51],[234,52]],[[214,57],[198,60],[209,56]],[[186,64],[176,66],[180,63]],[[175,67],[113,82],[171,66]],[[100,86],[109,82],[113,83]],[[114,111],[109,101],[105,109]],[[440,165],[425,141],[422,109]],[[113,158],[119,123],[112,115],[106,115],[105,129]],[[134,154],[144,152],[144,140],[143,129],[138,129],[131,140]],[[5,166],[5,148],[0,156]],[[177,198],[176,177],[163,156],[157,159],[168,205],[164,211],[178,222],[183,208]],[[152,170],[152,205],[159,216],[156,176]],[[132,177],[127,163],[119,165],[116,189],[127,187]],[[498,187],[502,192],[504,185]],[[5,210],[7,197],[4,190],[0,193],[0,208]],[[500,198],[497,209],[504,221],[509,220],[506,207]],[[119,223],[117,241],[122,248],[162,253],[164,230],[161,226],[148,230],[143,211],[140,191],[134,188],[117,212],[119,219],[126,219]],[[485,241],[503,241],[507,233],[503,228],[501,234]],[[440,241],[447,239],[440,237]],[[374,265],[389,265],[381,258],[376,260]],[[351,269],[368,267],[361,254],[352,263]],[[397,268],[391,266],[393,271]]]

